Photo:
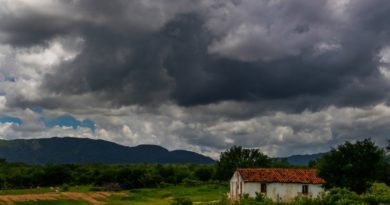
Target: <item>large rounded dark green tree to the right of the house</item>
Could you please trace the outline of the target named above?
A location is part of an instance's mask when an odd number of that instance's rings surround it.
[[[370,139],[346,142],[319,160],[319,176],[327,188],[345,187],[360,194],[381,178],[384,163],[384,150]]]

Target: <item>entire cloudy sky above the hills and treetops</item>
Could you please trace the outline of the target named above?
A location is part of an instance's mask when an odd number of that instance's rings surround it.
[[[213,158],[390,133],[388,0],[0,0],[0,138]]]

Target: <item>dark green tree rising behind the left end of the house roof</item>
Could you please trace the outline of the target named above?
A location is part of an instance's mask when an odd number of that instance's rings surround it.
[[[216,178],[227,180],[232,177],[237,168],[270,167],[271,159],[259,149],[244,149],[233,146],[221,153],[216,164]]]

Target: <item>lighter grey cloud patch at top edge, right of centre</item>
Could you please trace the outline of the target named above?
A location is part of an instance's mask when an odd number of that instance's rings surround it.
[[[326,51],[336,48],[336,44],[318,43],[339,38],[334,21],[340,19],[332,17],[334,8],[329,7],[334,4],[326,1],[243,0],[216,4],[216,9],[207,14],[207,27],[217,36],[209,47],[212,54],[242,61],[270,61],[318,49],[318,44]]]

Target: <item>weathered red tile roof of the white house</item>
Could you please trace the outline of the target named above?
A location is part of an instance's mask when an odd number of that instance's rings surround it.
[[[246,168],[238,169],[238,172],[245,182],[325,183],[317,176],[316,169]]]

